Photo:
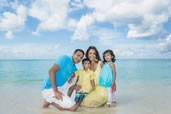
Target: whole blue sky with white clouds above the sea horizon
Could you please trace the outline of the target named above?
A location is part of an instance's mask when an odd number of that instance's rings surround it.
[[[171,59],[171,0],[0,0],[0,59],[89,46],[116,59]]]

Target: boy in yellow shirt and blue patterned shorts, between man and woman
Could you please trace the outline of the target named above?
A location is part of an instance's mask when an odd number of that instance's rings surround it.
[[[81,102],[89,92],[95,90],[95,73],[90,70],[90,60],[88,58],[83,59],[82,65],[83,69],[76,71],[68,81],[69,83],[71,83],[72,79],[74,77],[77,77],[77,82],[75,86],[75,102]]]

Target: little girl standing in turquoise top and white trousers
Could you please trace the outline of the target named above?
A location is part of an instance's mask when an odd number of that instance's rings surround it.
[[[116,102],[116,67],[115,67],[115,55],[112,50],[106,50],[103,54],[104,65],[100,72],[99,84],[107,88],[108,101],[107,106],[110,107],[113,102]]]

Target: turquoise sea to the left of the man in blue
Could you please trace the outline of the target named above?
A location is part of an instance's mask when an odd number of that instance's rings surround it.
[[[0,82],[40,83],[55,60],[0,60]]]

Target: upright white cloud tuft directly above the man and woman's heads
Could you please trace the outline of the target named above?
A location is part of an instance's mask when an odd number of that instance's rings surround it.
[[[72,36],[72,40],[89,40],[88,35],[88,26],[91,25],[95,21],[93,15],[85,15],[82,16],[77,28],[75,30],[74,35]]]

